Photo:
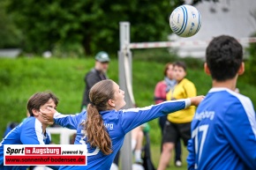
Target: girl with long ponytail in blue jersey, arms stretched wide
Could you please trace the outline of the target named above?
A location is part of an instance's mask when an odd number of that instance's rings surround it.
[[[87,111],[79,115],[61,115],[52,108],[42,112],[47,115],[50,110],[55,113],[57,124],[77,129],[74,144],[87,144],[87,166],[61,166],[60,169],[109,169],[124,143],[126,133],[154,118],[191,105],[197,106],[203,96],[122,110],[125,105],[124,91],[117,83],[107,79],[91,88],[89,98],[91,102]]]

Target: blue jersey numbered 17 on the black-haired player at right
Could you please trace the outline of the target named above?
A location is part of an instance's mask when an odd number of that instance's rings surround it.
[[[189,169],[256,169],[256,119],[252,101],[212,88],[192,120]]]

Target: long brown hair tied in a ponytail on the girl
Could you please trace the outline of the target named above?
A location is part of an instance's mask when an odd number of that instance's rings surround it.
[[[91,88],[89,93],[91,103],[87,106],[87,121],[84,124],[88,142],[91,146],[99,147],[106,155],[113,152],[112,142],[99,112],[108,110],[108,101],[114,98],[113,86],[113,81],[107,79]]]

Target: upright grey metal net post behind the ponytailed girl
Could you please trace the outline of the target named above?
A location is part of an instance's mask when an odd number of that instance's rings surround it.
[[[133,94],[131,94],[132,85],[132,53],[128,47],[130,44],[130,23],[120,22],[120,50],[118,51],[118,78],[119,85],[124,90],[124,108],[133,107]],[[132,135],[131,132],[126,134],[124,144],[121,148],[122,170],[132,170]]]

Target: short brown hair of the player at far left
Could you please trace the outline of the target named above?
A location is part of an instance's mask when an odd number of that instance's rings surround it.
[[[26,109],[29,112],[29,115],[33,116],[33,109],[39,110],[42,105],[47,103],[49,99],[52,99],[54,103],[58,104],[58,99],[55,94],[52,92],[36,92],[32,95],[26,104]]]

